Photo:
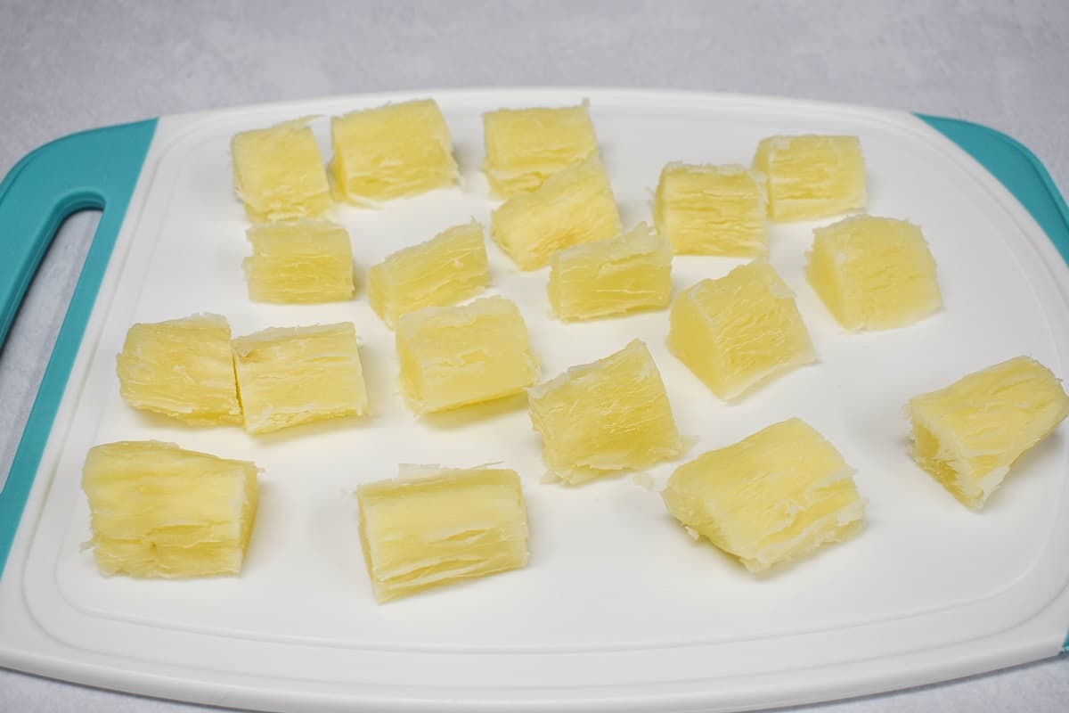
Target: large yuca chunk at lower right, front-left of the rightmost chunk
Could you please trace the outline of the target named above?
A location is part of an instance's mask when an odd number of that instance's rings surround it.
[[[668,479],[668,511],[750,572],[847,540],[864,526],[853,469],[832,444],[792,418],[702,453]]]

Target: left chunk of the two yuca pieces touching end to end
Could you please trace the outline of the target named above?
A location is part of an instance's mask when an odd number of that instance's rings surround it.
[[[134,408],[192,425],[242,422],[224,316],[135,324],[117,362],[119,391]]]

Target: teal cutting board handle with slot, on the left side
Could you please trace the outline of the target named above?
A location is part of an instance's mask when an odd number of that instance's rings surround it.
[[[72,134],[27,154],[0,183],[0,347],[60,223],[103,211],[0,491],[0,574],[155,130],[153,119]]]

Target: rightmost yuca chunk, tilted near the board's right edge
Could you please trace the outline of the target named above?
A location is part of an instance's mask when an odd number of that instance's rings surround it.
[[[1069,414],[1062,382],[1017,357],[910,400],[913,458],[965,506],[979,510],[1013,462]]]

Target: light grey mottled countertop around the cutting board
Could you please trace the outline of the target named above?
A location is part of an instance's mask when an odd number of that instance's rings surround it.
[[[506,84],[773,94],[969,119],[1024,142],[1069,189],[1069,0],[0,0],[0,174],[34,146],[97,125],[327,94]],[[91,227],[68,221],[0,351],[0,474]],[[0,669],[2,713],[197,710]],[[1069,660],[799,710],[1064,713]]]

